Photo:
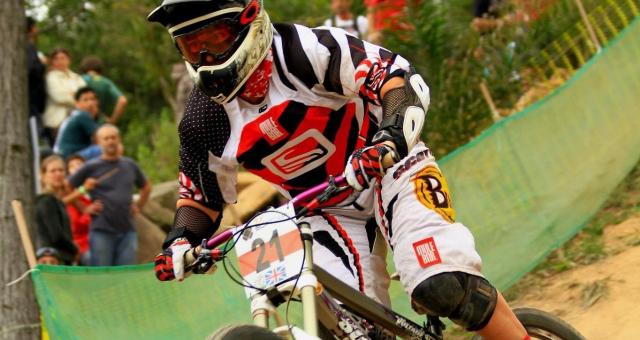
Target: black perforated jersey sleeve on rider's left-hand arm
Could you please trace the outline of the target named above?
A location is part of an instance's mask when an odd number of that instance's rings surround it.
[[[229,139],[229,118],[224,108],[195,87],[187,99],[178,133],[180,198],[221,211],[224,200],[216,175],[209,170],[208,160],[209,152],[222,155]]]

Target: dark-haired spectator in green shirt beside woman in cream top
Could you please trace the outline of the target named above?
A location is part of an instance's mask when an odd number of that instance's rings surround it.
[[[80,64],[80,71],[83,73],[82,79],[98,95],[100,113],[110,113],[107,123],[116,124],[127,107],[127,97],[122,94],[111,79],[102,75],[103,69],[102,60],[96,56],[85,57]]]

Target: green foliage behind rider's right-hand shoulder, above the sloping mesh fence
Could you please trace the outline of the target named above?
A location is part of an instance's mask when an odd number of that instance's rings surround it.
[[[587,10],[598,0],[584,1]],[[580,20],[575,2],[558,0],[536,21],[505,24],[478,34],[470,28],[472,1],[422,1],[408,11],[414,30],[387,32],[385,46],[412,62],[431,90],[424,137],[443,156],[490,126],[479,89],[485,82],[496,106],[513,107],[531,81],[533,57]],[[500,9],[509,15],[512,8]]]

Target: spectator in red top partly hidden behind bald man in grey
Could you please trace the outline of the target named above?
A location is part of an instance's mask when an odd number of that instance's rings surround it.
[[[67,159],[67,173],[69,176],[75,174],[83,165],[85,159],[79,155],[71,155]],[[85,191],[85,190],[81,190]],[[71,220],[71,233],[73,241],[79,250],[80,264],[89,265],[89,226],[91,215],[99,214],[102,211],[102,202],[91,201],[86,192],[71,202],[67,203],[67,214]]]

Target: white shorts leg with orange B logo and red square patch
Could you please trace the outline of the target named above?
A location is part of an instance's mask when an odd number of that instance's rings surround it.
[[[376,221],[407,294],[443,272],[482,276],[473,235],[455,222],[447,182],[423,143],[387,170],[375,200]]]

